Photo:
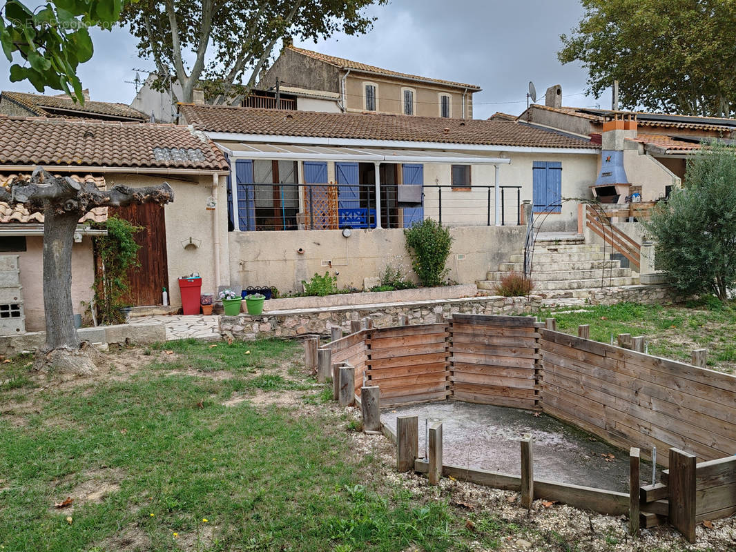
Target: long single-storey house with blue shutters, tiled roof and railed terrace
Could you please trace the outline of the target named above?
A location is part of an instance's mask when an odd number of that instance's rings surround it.
[[[522,121],[180,105],[230,163],[230,282],[299,291],[315,272],[362,287],[397,259],[403,228],[452,227],[453,280],[484,280],[518,252],[533,183],[547,227],[577,229],[600,145]],[[517,230],[518,229],[518,230]]]

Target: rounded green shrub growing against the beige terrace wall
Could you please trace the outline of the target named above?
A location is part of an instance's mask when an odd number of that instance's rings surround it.
[[[411,268],[422,286],[442,286],[449,272],[445,268],[453,238],[450,230],[432,219],[425,219],[404,230]]]

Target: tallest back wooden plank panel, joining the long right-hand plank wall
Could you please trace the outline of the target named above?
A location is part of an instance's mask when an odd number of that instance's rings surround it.
[[[539,333],[533,317],[455,314],[450,353],[451,398],[539,410]]]

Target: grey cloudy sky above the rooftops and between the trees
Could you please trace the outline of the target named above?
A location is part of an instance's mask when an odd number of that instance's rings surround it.
[[[479,85],[483,91],[474,96],[475,118],[496,111],[521,113],[530,80],[539,102],[549,86],[559,84],[564,105],[610,103],[606,96],[596,100],[584,95],[581,66],[557,61],[559,35],[569,32],[583,13],[578,0],[392,0],[370,13],[378,19],[368,35],[295,45],[394,71]],[[96,31],[93,40],[95,54],[80,68],[82,84],[90,88],[93,100],[129,104],[135,96],[135,69],[152,69],[152,63],[138,59],[126,29]],[[2,90],[34,91],[26,82],[10,82],[10,63],[4,58],[0,63]]]

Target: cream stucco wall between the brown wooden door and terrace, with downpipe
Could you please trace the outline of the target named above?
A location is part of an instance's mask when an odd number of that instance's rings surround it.
[[[191,181],[125,174],[107,176],[107,185],[125,183],[131,186],[144,186],[163,182],[168,182],[171,188],[174,188],[174,202],[164,207],[169,302],[171,305],[180,305],[181,296],[177,280],[180,276],[198,272],[202,276],[202,291],[216,291],[218,286],[228,285],[227,188],[225,177],[219,177],[217,209],[206,210],[205,203],[212,195],[211,175],[192,177]],[[220,282],[215,282],[213,237],[215,216],[220,242]],[[193,245],[188,245],[190,237],[194,242]]]

